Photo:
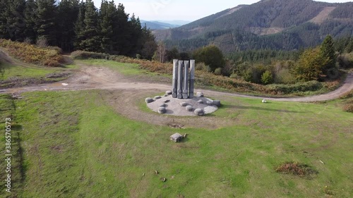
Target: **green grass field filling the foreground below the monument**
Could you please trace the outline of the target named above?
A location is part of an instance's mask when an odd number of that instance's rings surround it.
[[[106,103],[106,94],[30,92],[20,100],[0,95],[2,133],[6,117],[16,125],[13,192],[4,191],[1,161],[0,197],[353,194],[353,116],[342,111],[339,100],[262,104],[225,97],[214,116],[232,126],[182,130],[124,118]],[[174,132],[189,136],[176,144],[169,140]],[[4,141],[1,135],[0,144]],[[285,161],[305,163],[318,174],[276,173]]]

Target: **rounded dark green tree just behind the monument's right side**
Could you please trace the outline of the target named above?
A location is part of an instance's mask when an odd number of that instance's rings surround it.
[[[207,66],[210,66],[212,71],[215,71],[216,68],[222,68],[225,66],[225,59],[222,51],[220,51],[215,45],[203,47],[194,51],[193,58],[195,58],[197,62],[203,62]]]

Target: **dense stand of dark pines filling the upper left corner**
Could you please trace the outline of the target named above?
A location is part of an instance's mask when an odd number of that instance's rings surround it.
[[[0,0],[0,38],[45,41],[64,51],[85,50],[152,58],[157,44],[140,19],[123,4],[102,0]]]

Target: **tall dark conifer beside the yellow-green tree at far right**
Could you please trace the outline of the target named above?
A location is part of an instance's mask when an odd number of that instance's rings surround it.
[[[335,68],[336,66],[335,47],[331,35],[326,36],[323,40],[320,52],[322,58],[328,60],[325,66],[323,66],[323,74],[328,75],[328,70],[330,70],[330,68]]]

